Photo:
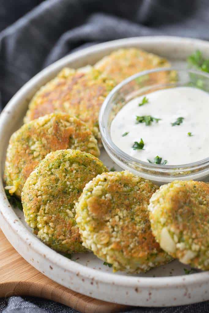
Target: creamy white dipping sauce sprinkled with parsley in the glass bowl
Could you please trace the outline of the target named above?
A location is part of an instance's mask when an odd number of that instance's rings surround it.
[[[139,160],[167,160],[167,165],[188,164],[209,156],[209,95],[193,87],[154,91],[148,103],[139,106],[142,97],[129,101],[111,124],[112,141],[122,151]],[[151,115],[158,122],[136,124],[136,115]],[[172,126],[179,117],[180,125]],[[122,136],[128,132],[128,135]],[[189,136],[191,133],[192,136]],[[144,150],[134,150],[135,141],[144,141]]]

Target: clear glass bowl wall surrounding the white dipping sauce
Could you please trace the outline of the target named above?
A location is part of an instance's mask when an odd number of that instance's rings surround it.
[[[193,86],[209,92],[209,74],[193,69],[178,68],[160,68],[134,74],[110,92],[99,114],[102,143],[111,159],[121,168],[159,185],[176,179],[209,181],[209,157],[198,162],[176,166],[140,161],[123,152],[113,143],[110,126],[123,105],[135,97],[178,86]]]

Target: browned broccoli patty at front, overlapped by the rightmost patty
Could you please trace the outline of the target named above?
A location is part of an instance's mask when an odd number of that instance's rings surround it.
[[[152,235],[149,198],[158,187],[128,171],[93,178],[76,203],[76,222],[83,245],[113,271],[146,272],[170,256]]]

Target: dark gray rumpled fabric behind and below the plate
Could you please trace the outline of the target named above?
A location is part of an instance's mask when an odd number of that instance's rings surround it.
[[[0,0],[0,108],[45,66],[112,39],[176,35],[209,39],[208,0]],[[4,313],[75,313],[43,299],[7,300]],[[40,309],[38,309],[38,305]],[[0,312],[5,308],[0,299]],[[206,313],[209,302],[132,313]]]

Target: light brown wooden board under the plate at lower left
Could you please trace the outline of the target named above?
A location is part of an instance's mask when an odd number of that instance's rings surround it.
[[[0,298],[11,295],[46,298],[81,313],[113,313],[130,309],[96,300],[55,283],[23,259],[0,229]]]

